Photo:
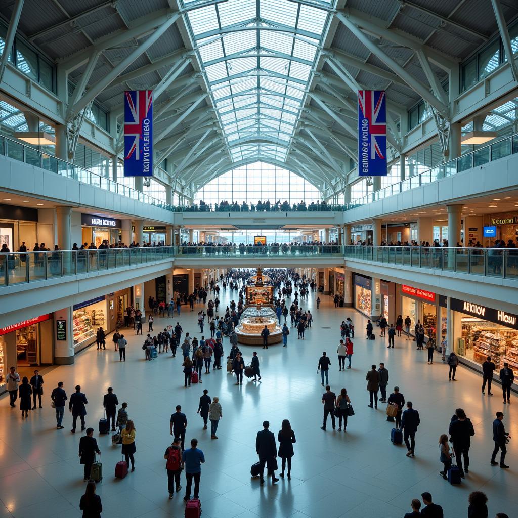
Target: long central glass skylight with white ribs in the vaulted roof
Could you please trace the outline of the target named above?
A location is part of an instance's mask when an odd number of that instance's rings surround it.
[[[235,162],[286,159],[328,23],[309,3],[334,0],[227,0],[189,11]]]

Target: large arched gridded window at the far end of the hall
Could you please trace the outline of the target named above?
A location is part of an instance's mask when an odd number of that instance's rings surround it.
[[[210,181],[196,193],[194,203],[247,202],[256,204],[258,200],[275,203],[287,200],[290,205],[304,200],[307,204],[318,202],[322,193],[304,178],[293,171],[255,162],[243,165]]]

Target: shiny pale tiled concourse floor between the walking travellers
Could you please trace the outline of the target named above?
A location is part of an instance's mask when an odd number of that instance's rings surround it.
[[[237,299],[237,291],[232,292]],[[209,296],[210,298],[210,296]],[[189,425],[186,444],[192,437],[205,452],[200,498],[203,518],[338,518],[383,516],[400,518],[410,512],[410,500],[429,491],[443,506],[445,518],[467,516],[468,495],[480,490],[488,496],[489,516],[506,512],[516,516],[518,505],[518,398],[513,393],[511,406],[502,405],[499,385],[492,398],[481,395],[481,377],[465,367],[457,370],[456,382],[448,381],[448,370],[436,352],[428,365],[426,350],[416,351],[413,341],[396,338],[396,348],[386,349],[386,338],[365,339],[366,319],[353,309],[335,309],[332,299],[322,296],[316,310],[311,294],[308,307],[313,326],[305,340],[297,340],[295,329],[288,347],[240,346],[246,363],[257,350],[261,361],[261,383],[244,378],[235,386],[235,378],[225,366],[203,375],[203,384],[183,387],[181,352],[176,358],[162,353],[152,362],[144,361],[143,339],[133,330],[128,338],[127,361],[119,362],[113,352],[111,335],[106,351],[95,344],[76,357],[74,366],[57,367],[45,375],[44,408],[21,419],[17,408],[9,407],[9,398],[0,400],[0,518],[76,518],[81,516],[79,499],[84,493],[83,469],[79,465],[78,443],[81,433],[70,433],[71,414],[65,412],[63,430],[55,429],[50,393],[58,381],[65,382],[70,396],[80,384],[87,395],[86,425],[94,428],[102,451],[104,480],[97,484],[103,514],[109,518],[163,518],[183,516],[182,492],[168,499],[164,451],[171,442],[169,418],[176,405],[186,413]],[[224,309],[229,292],[220,293]],[[180,321],[184,333],[200,338],[195,312],[182,306],[181,316],[155,319],[157,333],[167,324]],[[221,306],[220,306],[221,308]],[[351,316],[355,324],[352,369],[339,372],[336,348],[339,324]],[[144,327],[144,337],[147,326]],[[208,325],[205,330],[208,331]],[[155,333],[155,334],[156,334]],[[206,333],[207,335],[210,333]],[[183,339],[182,339],[183,341]],[[224,341],[228,352],[228,339]],[[356,415],[349,418],[347,434],[333,431],[328,422],[322,431],[324,392],[316,366],[322,351],[332,362],[330,385],[337,394],[347,387]],[[226,356],[226,354],[225,354]],[[406,457],[404,445],[390,442],[391,423],[386,422],[385,405],[368,408],[365,375],[372,363],[384,362],[390,372],[389,389],[399,385],[407,400],[420,412],[421,426],[416,434],[415,458]],[[112,446],[111,433],[99,436],[102,400],[108,386],[113,386],[119,402],[127,401],[130,419],[135,421],[136,471],[124,480],[114,479],[115,464],[121,459],[120,446]],[[219,396],[223,408],[218,440],[210,439],[210,426],[203,430],[203,420],[196,414],[203,389]],[[389,391],[390,393],[391,391]],[[476,435],[470,450],[470,472],[460,486],[442,480],[439,471],[439,435],[448,432],[456,407],[463,407],[473,421]],[[515,438],[508,447],[509,470],[490,466],[493,450],[492,422],[495,412],[505,413],[506,429]],[[280,479],[276,485],[267,480],[264,486],[250,477],[256,462],[255,436],[263,420],[277,437],[281,421],[290,419],[297,442],[294,444],[291,481]],[[330,421],[330,418],[329,418]],[[210,425],[210,423],[209,423]],[[338,425],[337,425],[338,427]],[[279,466],[280,466],[280,459]],[[277,472],[278,473],[278,472]],[[514,510],[514,511],[513,511]]]

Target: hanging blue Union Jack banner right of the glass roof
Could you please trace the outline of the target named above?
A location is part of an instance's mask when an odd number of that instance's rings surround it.
[[[384,90],[358,90],[358,176],[387,175]]]

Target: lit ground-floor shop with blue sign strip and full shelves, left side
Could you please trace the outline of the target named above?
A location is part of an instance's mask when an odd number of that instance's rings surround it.
[[[95,342],[97,329],[107,329],[106,296],[73,306],[74,349],[76,352]]]

